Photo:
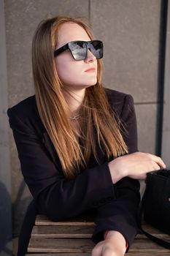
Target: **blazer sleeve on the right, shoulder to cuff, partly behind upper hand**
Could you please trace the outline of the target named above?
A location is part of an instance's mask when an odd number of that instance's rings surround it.
[[[126,129],[124,140],[129,154],[138,151],[136,114],[134,101],[130,95],[124,99],[120,119]],[[138,233],[136,216],[140,200],[139,181],[128,177],[122,178],[115,184],[115,192],[115,200],[98,207],[93,241],[98,243],[103,240],[106,230],[117,230],[128,241],[128,246],[131,246]]]

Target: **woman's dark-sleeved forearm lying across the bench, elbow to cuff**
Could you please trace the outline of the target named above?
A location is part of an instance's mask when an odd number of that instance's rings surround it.
[[[40,192],[36,203],[42,214],[56,220],[77,216],[114,198],[114,186],[104,164],[83,171],[71,181],[59,179]]]

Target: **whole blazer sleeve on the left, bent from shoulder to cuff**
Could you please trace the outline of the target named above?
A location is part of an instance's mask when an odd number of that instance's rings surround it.
[[[9,109],[7,113],[21,171],[39,214],[45,214],[53,220],[65,219],[115,198],[107,162],[67,180],[62,175],[60,163],[54,164],[50,159],[31,121],[24,121],[16,110]]]

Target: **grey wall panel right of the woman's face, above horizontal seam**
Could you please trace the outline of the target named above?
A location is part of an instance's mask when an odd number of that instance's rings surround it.
[[[155,102],[161,0],[92,0],[90,20],[104,41],[104,84]]]

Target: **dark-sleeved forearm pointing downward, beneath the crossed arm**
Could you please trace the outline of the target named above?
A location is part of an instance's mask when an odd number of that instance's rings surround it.
[[[139,181],[123,178],[115,184],[115,190],[116,200],[98,208],[93,241],[98,243],[104,240],[106,230],[116,230],[123,234],[131,246],[138,233],[136,214],[140,200]]]

